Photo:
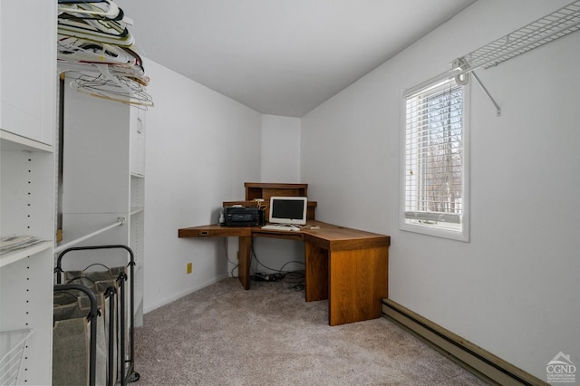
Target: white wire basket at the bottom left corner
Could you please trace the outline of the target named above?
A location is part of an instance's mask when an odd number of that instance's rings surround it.
[[[24,351],[28,338],[33,330],[14,330],[0,332],[0,384],[15,385],[19,383]]]

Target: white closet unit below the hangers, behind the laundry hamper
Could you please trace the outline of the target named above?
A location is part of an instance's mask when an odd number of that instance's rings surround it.
[[[145,111],[94,98],[71,89],[66,78],[63,108],[63,241],[125,218],[119,227],[75,246],[121,244],[135,255],[135,325],[142,324],[144,130]],[[74,256],[70,256],[74,255]],[[70,258],[69,258],[70,257]],[[127,254],[111,250],[74,252],[65,269],[83,269],[100,262],[119,265]]]

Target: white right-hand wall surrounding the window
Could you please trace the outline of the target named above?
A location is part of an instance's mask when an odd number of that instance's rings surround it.
[[[580,362],[580,34],[478,71],[469,243],[399,229],[401,92],[567,3],[477,2],[302,121],[317,217],[391,236],[389,297],[543,380]]]

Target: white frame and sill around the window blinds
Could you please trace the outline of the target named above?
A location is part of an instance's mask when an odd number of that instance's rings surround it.
[[[439,236],[453,240],[469,242],[469,111],[470,111],[470,86],[463,85],[463,111],[462,111],[462,201],[460,216],[454,214],[438,214],[436,212],[412,212],[406,210],[407,198],[407,99],[430,86],[443,82],[444,78],[434,78],[420,83],[411,89],[401,92],[401,172],[400,172],[400,228],[404,231],[420,233],[429,236]],[[411,219],[415,215],[415,219]],[[418,221],[418,219],[420,221]]]

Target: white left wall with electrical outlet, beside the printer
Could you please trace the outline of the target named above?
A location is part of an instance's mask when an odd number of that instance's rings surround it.
[[[146,61],[144,312],[227,277],[223,238],[178,238],[218,222],[222,202],[260,179],[261,114]],[[229,256],[236,260],[236,256]],[[186,266],[193,263],[193,273]]]

